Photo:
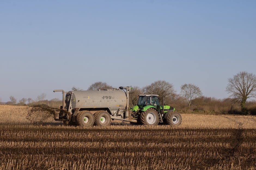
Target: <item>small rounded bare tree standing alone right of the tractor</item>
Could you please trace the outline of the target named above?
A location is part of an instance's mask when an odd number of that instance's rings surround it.
[[[191,101],[197,97],[202,96],[200,88],[194,84],[184,84],[181,86],[181,94],[188,102],[190,107]]]

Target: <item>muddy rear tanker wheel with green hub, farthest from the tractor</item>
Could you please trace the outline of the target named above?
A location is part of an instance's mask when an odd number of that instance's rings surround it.
[[[78,126],[92,126],[94,123],[94,116],[89,111],[81,111],[77,114],[76,124]]]

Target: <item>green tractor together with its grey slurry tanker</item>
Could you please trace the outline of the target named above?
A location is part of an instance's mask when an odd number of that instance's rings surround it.
[[[131,90],[129,86],[97,91],[54,90],[62,92],[60,108],[65,110],[56,113],[55,120],[74,126],[108,126],[114,119],[148,126],[181,124],[181,115],[175,108],[164,105],[164,98],[160,104],[158,95],[139,95],[137,105],[129,108]]]

